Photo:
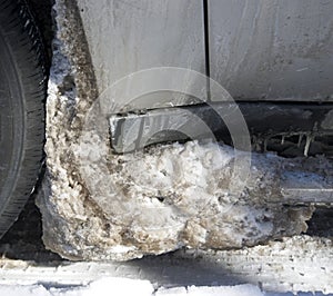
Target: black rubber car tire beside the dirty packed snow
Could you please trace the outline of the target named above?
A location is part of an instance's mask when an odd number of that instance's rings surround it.
[[[0,237],[38,179],[44,141],[43,47],[22,0],[0,0]]]

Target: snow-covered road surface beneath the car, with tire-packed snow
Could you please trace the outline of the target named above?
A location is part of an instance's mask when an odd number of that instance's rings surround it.
[[[242,250],[181,250],[123,263],[0,259],[0,295],[320,296],[333,295],[332,279],[332,241],[307,236]]]

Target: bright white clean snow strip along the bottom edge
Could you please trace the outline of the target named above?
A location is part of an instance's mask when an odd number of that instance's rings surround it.
[[[103,295],[135,295],[135,296],[162,296],[162,295],[190,295],[190,296],[278,296],[293,295],[291,293],[275,294],[261,292],[254,285],[236,286],[190,286],[174,288],[154,288],[149,280],[128,278],[101,278],[84,286],[47,286],[41,283],[33,285],[2,285],[0,295],[6,296],[103,296]],[[323,295],[321,293],[300,293],[299,296]]]

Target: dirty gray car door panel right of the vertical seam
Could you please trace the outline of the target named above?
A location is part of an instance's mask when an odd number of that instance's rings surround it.
[[[333,100],[333,1],[209,0],[211,77],[235,99]]]

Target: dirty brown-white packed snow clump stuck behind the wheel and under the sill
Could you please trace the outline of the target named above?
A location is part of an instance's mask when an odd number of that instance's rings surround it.
[[[228,146],[189,141],[113,155],[108,137],[82,132],[93,88],[87,65],[78,65],[81,46],[67,31],[70,16],[57,6],[48,169],[38,198],[49,249],[70,259],[128,260],[181,247],[242,248],[306,229],[313,208],[285,207],[282,193],[285,170],[302,171],[302,161],[252,154],[246,185],[234,194]]]

